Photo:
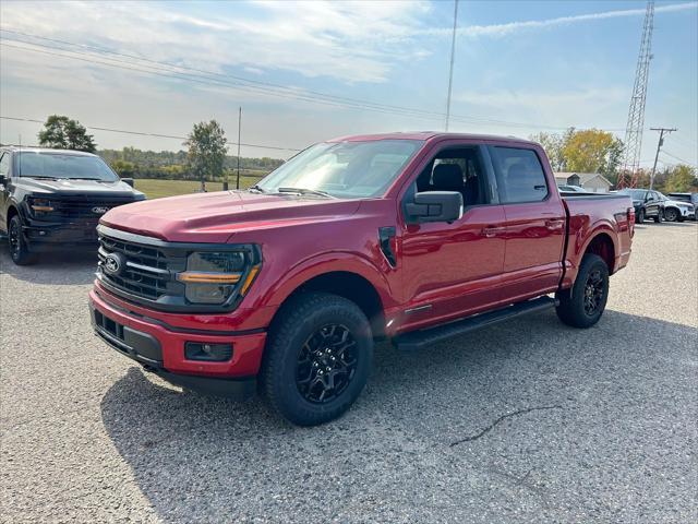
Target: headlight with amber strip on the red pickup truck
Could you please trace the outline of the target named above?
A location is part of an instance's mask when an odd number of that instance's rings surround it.
[[[226,303],[233,294],[248,293],[260,271],[253,249],[191,253],[186,271],[177,279],[183,283],[184,296],[193,303]]]

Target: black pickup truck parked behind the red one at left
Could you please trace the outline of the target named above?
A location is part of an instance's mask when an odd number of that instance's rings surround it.
[[[0,147],[0,236],[8,237],[12,261],[31,264],[55,249],[96,250],[101,215],[145,199],[132,183],[91,153]]]

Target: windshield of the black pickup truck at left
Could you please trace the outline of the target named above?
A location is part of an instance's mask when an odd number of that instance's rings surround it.
[[[73,178],[113,182],[119,177],[98,156],[22,152],[17,155],[21,177]]]

